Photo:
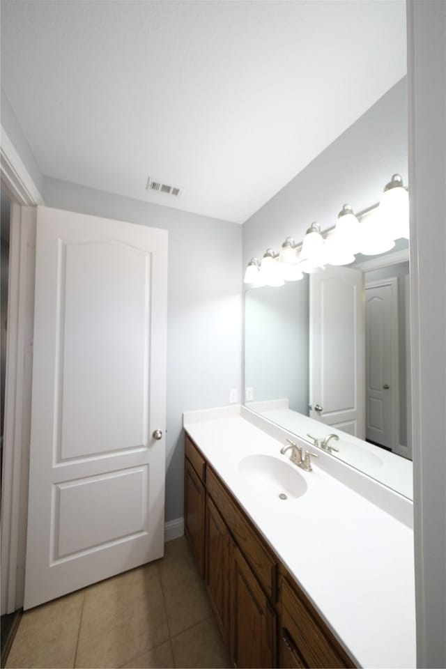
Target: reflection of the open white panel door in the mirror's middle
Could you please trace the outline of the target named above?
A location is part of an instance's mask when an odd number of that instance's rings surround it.
[[[310,275],[309,415],[364,438],[364,307],[360,270]]]

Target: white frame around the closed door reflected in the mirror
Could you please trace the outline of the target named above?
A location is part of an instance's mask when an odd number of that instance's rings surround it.
[[[382,288],[383,286],[390,286],[391,300],[392,300],[392,370],[390,388],[392,390],[392,452],[401,455],[399,452],[399,340],[398,340],[398,278],[390,277],[389,279],[378,279],[378,281],[364,282],[364,292],[370,288]],[[367,318],[367,311],[365,314]],[[367,332],[367,330],[366,330]],[[364,341],[366,370],[367,370],[367,335]],[[367,371],[366,371],[367,374]],[[367,385],[367,384],[366,384]],[[366,398],[366,416],[367,416],[367,398]]]

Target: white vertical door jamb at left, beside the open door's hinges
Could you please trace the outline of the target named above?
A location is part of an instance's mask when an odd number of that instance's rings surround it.
[[[1,613],[23,603],[34,313],[36,208],[11,207],[1,504]]]

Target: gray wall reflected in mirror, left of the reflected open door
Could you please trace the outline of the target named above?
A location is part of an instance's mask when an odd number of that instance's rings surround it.
[[[245,294],[245,386],[254,401],[287,397],[308,413],[308,275]],[[301,355],[305,351],[305,355]]]

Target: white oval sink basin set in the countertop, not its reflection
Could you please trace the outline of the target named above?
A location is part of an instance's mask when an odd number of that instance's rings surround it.
[[[296,499],[307,490],[304,477],[293,467],[270,455],[248,455],[238,464],[252,488],[280,500]]]

